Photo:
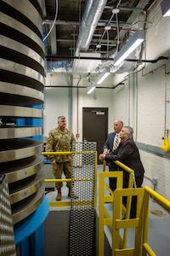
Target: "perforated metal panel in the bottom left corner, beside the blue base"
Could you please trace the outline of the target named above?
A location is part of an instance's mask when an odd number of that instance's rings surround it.
[[[0,176],[0,255],[16,255],[8,183],[4,175]]]

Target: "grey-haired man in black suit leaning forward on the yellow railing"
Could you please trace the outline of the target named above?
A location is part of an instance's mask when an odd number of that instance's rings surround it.
[[[135,177],[135,187],[140,188],[144,179],[144,166],[140,160],[139,149],[133,141],[133,128],[130,126],[123,126],[120,131],[121,142],[118,148],[109,154],[99,154],[99,160],[112,162],[119,160],[125,166],[133,169]],[[128,173],[123,172],[123,188],[128,187]],[[136,216],[136,197],[133,196],[130,218]]]

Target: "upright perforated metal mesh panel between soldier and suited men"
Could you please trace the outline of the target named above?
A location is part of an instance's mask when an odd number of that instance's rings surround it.
[[[94,255],[96,143],[75,143],[72,151],[76,154],[71,186],[70,255]]]

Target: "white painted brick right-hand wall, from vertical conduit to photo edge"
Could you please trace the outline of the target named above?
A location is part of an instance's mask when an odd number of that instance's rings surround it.
[[[146,31],[146,48],[144,58],[154,60],[161,55],[169,57],[170,54],[170,17],[163,18],[160,8],[161,1],[156,1],[150,9],[147,20],[152,26]],[[170,63],[158,61],[155,64],[147,63],[143,72],[139,73],[138,81],[138,142],[150,144],[161,148],[161,137],[165,129],[170,128],[170,105],[165,102],[170,96]],[[166,88],[167,87],[167,88]],[[166,127],[165,127],[166,123]],[[156,154],[140,150],[144,163],[145,175],[157,178],[156,191],[170,199],[170,172],[169,160]],[[153,186],[147,179],[144,185]]]

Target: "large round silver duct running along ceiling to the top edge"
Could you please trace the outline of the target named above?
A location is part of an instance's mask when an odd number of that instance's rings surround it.
[[[89,48],[89,44],[93,38],[96,26],[105,9],[106,3],[107,0],[88,0],[79,28],[79,36],[75,50],[76,56],[79,55],[81,50],[84,51]]]

